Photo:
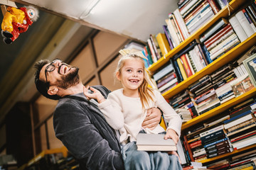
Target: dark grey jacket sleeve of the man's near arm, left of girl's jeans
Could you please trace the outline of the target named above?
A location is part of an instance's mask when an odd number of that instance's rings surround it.
[[[81,169],[124,169],[121,153],[110,147],[114,140],[107,141],[102,135],[110,132],[105,130],[104,123],[99,131],[96,118],[89,113],[79,103],[60,103],[53,118],[56,137],[78,159]]]

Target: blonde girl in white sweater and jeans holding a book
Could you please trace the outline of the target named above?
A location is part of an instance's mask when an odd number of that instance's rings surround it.
[[[120,50],[119,53],[122,56],[117,64],[116,77],[121,81],[123,89],[112,91],[107,99],[96,89],[90,88],[92,93],[89,93],[89,86],[84,89],[84,93],[88,99],[94,98],[98,101],[107,123],[114,130],[119,130],[124,166],[126,169],[132,169],[129,165],[131,158],[128,156],[129,152],[139,152],[136,148],[136,138],[142,130],[147,109],[158,107],[163,111],[164,118],[169,123],[165,139],[171,138],[177,143],[182,122],[159,91],[149,88],[148,84],[154,85],[144,67],[143,53],[135,50]],[[143,132],[157,134],[165,130],[158,125],[154,129],[143,129]],[[166,152],[146,152],[146,154],[149,154],[149,167],[151,167],[149,169],[181,169],[181,164],[174,155]]]

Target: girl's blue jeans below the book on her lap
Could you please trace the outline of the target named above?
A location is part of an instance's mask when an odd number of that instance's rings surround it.
[[[122,147],[122,157],[126,170],[182,170],[176,155],[167,152],[138,151],[136,142],[129,142]]]

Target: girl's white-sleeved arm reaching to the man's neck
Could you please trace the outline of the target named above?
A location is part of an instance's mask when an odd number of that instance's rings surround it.
[[[92,91],[90,92],[89,89]],[[114,129],[120,130],[124,127],[124,115],[122,108],[118,104],[118,99],[111,93],[107,96],[107,99],[102,96],[100,91],[92,87],[84,87],[84,94],[88,100],[94,98],[99,103],[100,111],[103,113],[107,123]]]

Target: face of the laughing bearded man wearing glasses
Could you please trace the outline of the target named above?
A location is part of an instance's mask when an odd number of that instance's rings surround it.
[[[46,71],[49,65],[52,67],[50,72],[48,70]],[[40,79],[43,81],[47,79],[50,86],[68,89],[70,86],[74,86],[80,82],[78,70],[78,67],[72,67],[61,60],[56,60],[43,66],[40,72]]]

